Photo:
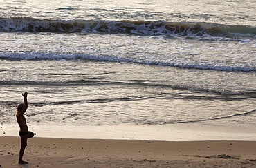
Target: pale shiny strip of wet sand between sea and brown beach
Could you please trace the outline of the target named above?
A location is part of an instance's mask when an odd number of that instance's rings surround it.
[[[253,128],[223,127],[186,123],[181,125],[30,125],[40,138],[113,139],[113,140],[256,140]],[[0,136],[19,136],[19,126],[0,125]]]

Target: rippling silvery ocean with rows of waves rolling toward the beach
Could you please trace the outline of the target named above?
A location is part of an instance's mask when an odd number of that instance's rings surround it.
[[[253,0],[0,1],[2,125],[256,126]]]

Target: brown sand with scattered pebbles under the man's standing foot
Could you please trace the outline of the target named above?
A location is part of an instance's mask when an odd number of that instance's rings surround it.
[[[0,167],[256,167],[255,141],[149,141],[0,136]]]

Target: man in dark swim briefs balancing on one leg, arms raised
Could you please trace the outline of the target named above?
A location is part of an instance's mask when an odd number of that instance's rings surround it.
[[[24,103],[18,105],[17,113],[16,113],[17,122],[20,128],[19,136],[21,137],[21,149],[19,151],[19,164],[27,164],[28,162],[24,162],[22,160],[22,157],[24,155],[24,151],[27,146],[27,139],[32,138],[34,136],[34,133],[28,131],[28,125],[26,124],[26,119],[23,115],[26,112],[26,109],[28,109],[28,101],[27,101],[28,93],[25,92],[24,94],[22,94],[22,96],[24,97]]]

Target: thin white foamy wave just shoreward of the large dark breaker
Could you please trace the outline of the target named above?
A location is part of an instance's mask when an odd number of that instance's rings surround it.
[[[220,70],[220,71],[239,71],[239,72],[256,72],[256,67],[247,65],[221,65],[212,62],[189,62],[189,61],[157,61],[147,59],[132,59],[109,55],[91,55],[91,54],[70,54],[70,53],[41,53],[41,52],[16,52],[16,53],[1,53],[0,59],[6,60],[90,60],[90,61],[107,61],[107,62],[124,62],[138,63],[143,65],[161,65],[170,67],[180,67],[200,70]]]

